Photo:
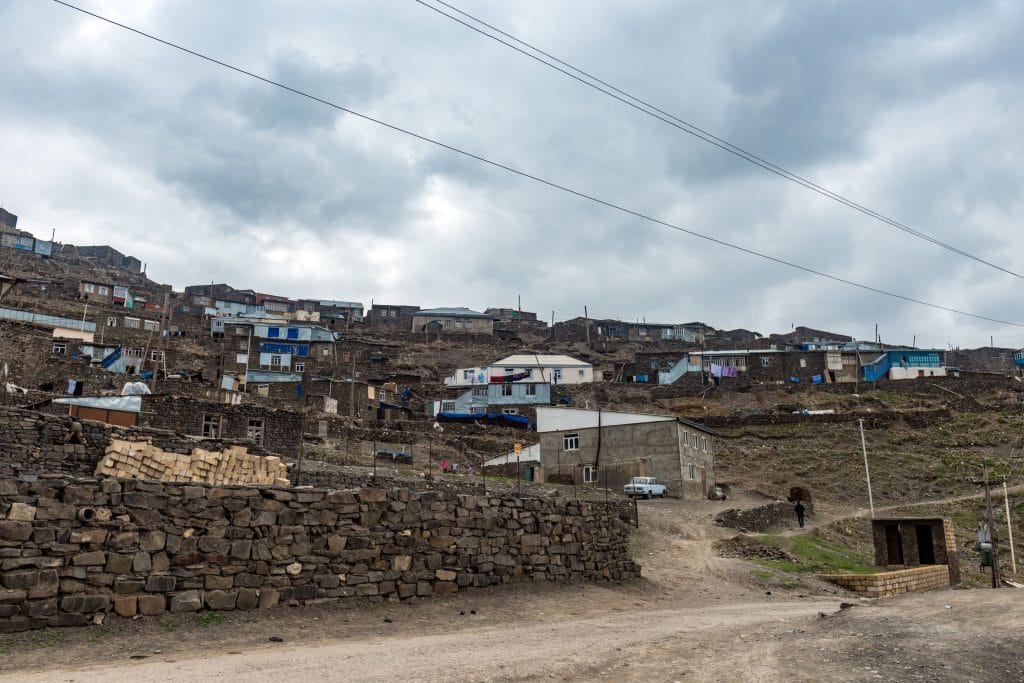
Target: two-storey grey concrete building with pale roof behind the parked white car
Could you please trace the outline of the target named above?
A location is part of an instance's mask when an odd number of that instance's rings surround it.
[[[537,431],[547,481],[620,488],[653,476],[676,498],[705,498],[715,485],[715,432],[689,420],[542,407]]]

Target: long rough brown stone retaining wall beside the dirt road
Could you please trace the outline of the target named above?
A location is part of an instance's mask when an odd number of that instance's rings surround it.
[[[616,505],[0,477],[0,632],[639,575]],[[625,513],[624,513],[625,514]]]

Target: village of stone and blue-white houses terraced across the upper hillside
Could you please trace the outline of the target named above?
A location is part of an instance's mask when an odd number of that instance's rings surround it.
[[[792,414],[808,407],[755,400],[730,411],[736,398],[713,399],[907,380],[931,390],[1024,369],[1017,349],[919,349],[804,327],[762,335],[699,322],[549,324],[504,307],[289,299],[258,283],[175,292],[112,247],[40,240],[7,211],[0,230],[5,402],[255,445],[278,431],[274,421],[301,423],[313,443],[413,446],[432,434],[441,450],[458,437],[428,431],[434,423],[502,428],[501,438],[462,444],[456,459],[479,466],[514,441],[537,442],[544,407],[666,413],[699,398],[699,414],[680,417]],[[146,395],[140,411],[112,408],[134,392]],[[297,455],[298,434],[284,440],[272,450]]]

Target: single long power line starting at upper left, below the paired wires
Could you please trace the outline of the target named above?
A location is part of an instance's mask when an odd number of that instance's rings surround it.
[[[144,31],[140,31],[138,29],[132,28],[132,27],[127,26],[125,24],[120,24],[119,22],[115,22],[114,19],[108,18],[108,17],[102,16],[100,14],[96,14],[95,12],[91,12],[91,11],[89,11],[87,9],[83,9],[81,7],[73,5],[73,4],[69,3],[69,2],[66,2],[65,0],[53,0],[53,2],[55,2],[58,5],[62,5],[65,7],[68,7],[69,9],[74,9],[75,11],[81,12],[83,14],[87,14],[89,16],[92,16],[93,18],[97,18],[97,19],[99,19],[101,22],[105,22],[106,24],[110,24],[112,26],[116,26],[119,29],[124,29],[125,31],[129,31],[131,33],[134,33],[135,35],[141,36],[143,38],[147,38],[147,39],[150,39],[152,41],[155,41],[155,42],[160,43],[162,45],[166,45],[168,47],[174,48],[174,49],[179,50],[181,52],[184,52],[186,54],[190,54],[191,56],[198,57],[198,58],[203,59],[205,61],[209,61],[211,63],[217,65],[218,67],[223,67],[224,69],[233,71],[233,72],[236,72],[238,74],[242,74],[244,76],[248,76],[248,77],[256,79],[258,81],[262,81],[263,83],[266,83],[267,85],[272,85],[274,87],[278,87],[278,88],[281,88],[281,89],[286,90],[288,92],[291,92],[292,94],[296,94],[296,95],[299,95],[301,97],[305,97],[305,98],[310,99],[310,100],[312,100],[314,102],[318,102],[318,103],[324,104],[326,106],[330,106],[330,108],[332,108],[334,110],[337,110],[339,112],[344,112],[345,114],[349,114],[351,116],[357,117],[359,119],[362,119],[364,121],[369,121],[371,123],[377,124],[377,125],[382,126],[384,128],[387,128],[389,130],[393,130],[395,132],[402,133],[403,135],[409,135],[410,137],[414,137],[414,138],[416,138],[418,140],[422,140],[424,142],[428,142],[430,144],[433,144],[435,146],[441,147],[443,150],[447,150],[449,152],[454,152],[455,154],[462,155],[462,156],[467,157],[469,159],[473,159],[474,161],[478,161],[481,164],[486,164],[487,166],[492,166],[494,168],[499,168],[499,169],[501,169],[503,171],[507,171],[507,172],[512,173],[514,175],[517,175],[519,177],[526,178],[528,180],[532,180],[535,182],[541,183],[543,185],[547,185],[548,187],[552,187],[554,189],[559,189],[561,191],[568,193],[568,194],[573,195],[575,197],[579,197],[581,199],[585,199],[585,200],[587,200],[589,202],[593,202],[595,204],[599,204],[599,205],[607,207],[609,209],[614,209],[615,211],[620,211],[620,212],[628,214],[630,216],[634,216],[636,218],[641,218],[641,219],[649,221],[651,223],[655,223],[657,225],[662,225],[663,227],[667,227],[667,228],[670,228],[670,229],[673,229],[673,230],[678,230],[680,232],[684,232],[684,233],[689,234],[689,236],[694,237],[694,238],[699,238],[701,240],[706,240],[708,242],[711,242],[711,243],[714,243],[714,244],[717,244],[717,245],[721,245],[723,247],[728,247],[730,249],[734,249],[734,250],[742,252],[744,254],[750,254],[751,256],[757,256],[759,258],[763,258],[763,259],[766,259],[768,261],[772,261],[774,263],[778,263],[780,265],[785,265],[785,266],[788,266],[791,268],[795,268],[797,270],[802,270],[804,272],[807,272],[807,273],[810,273],[810,274],[813,274],[813,275],[818,275],[820,278],[825,278],[827,280],[831,280],[834,282],[841,283],[843,285],[849,285],[850,287],[856,287],[856,288],[865,290],[867,292],[873,292],[876,294],[881,294],[881,295],[884,295],[884,296],[892,297],[894,299],[900,299],[902,301],[907,301],[909,303],[916,303],[916,304],[920,304],[922,306],[928,306],[928,307],[934,308],[936,310],[944,310],[946,312],[956,313],[958,315],[966,315],[968,317],[974,317],[974,318],[981,319],[981,321],[987,321],[989,323],[997,323],[999,325],[1009,325],[1009,326],[1024,328],[1024,323],[1015,323],[1015,322],[1012,322],[1012,321],[1001,321],[1001,319],[998,319],[998,318],[995,318],[995,317],[989,317],[987,315],[981,315],[979,313],[972,313],[972,312],[965,311],[965,310],[958,310],[956,308],[950,308],[948,306],[942,306],[942,305],[937,304],[937,303],[931,303],[929,301],[923,301],[921,299],[915,299],[913,297],[905,296],[905,295],[902,295],[902,294],[896,294],[894,292],[889,292],[887,290],[883,290],[883,289],[879,289],[879,288],[876,288],[876,287],[871,287],[869,285],[863,285],[861,283],[857,283],[857,282],[854,282],[854,281],[851,281],[851,280],[846,280],[846,279],[840,278],[838,275],[829,274],[827,272],[823,272],[823,271],[820,271],[820,270],[815,270],[814,268],[811,268],[809,266],[800,265],[799,263],[794,263],[792,261],[786,261],[784,259],[781,259],[781,258],[778,258],[778,257],[775,257],[775,256],[771,256],[769,254],[764,254],[764,253],[761,253],[759,251],[756,251],[756,250],[753,250],[753,249],[749,249],[746,247],[741,247],[739,245],[735,245],[735,244],[732,244],[730,242],[726,242],[725,240],[720,240],[718,238],[714,238],[714,237],[711,237],[709,234],[703,234],[702,232],[697,232],[695,230],[691,230],[691,229],[683,227],[681,225],[676,225],[675,223],[670,223],[668,221],[664,221],[664,220],[660,220],[658,218],[654,218],[653,216],[648,216],[647,214],[642,213],[640,211],[636,211],[634,209],[630,209],[630,208],[624,207],[622,205],[614,204],[613,202],[608,202],[606,200],[602,200],[602,199],[600,199],[598,197],[594,197],[593,195],[588,195],[588,194],[586,194],[584,191],[581,191],[581,190],[578,190],[578,189],[572,189],[571,187],[559,184],[557,182],[554,182],[553,180],[547,180],[545,178],[542,178],[540,176],[534,175],[531,173],[527,173],[526,171],[521,171],[521,170],[519,170],[517,168],[514,168],[512,166],[508,166],[508,165],[502,164],[500,162],[492,161],[490,159],[487,159],[485,157],[481,157],[479,155],[473,154],[472,152],[467,152],[465,150],[461,150],[460,147],[454,146],[452,144],[447,144],[445,142],[441,142],[440,140],[436,140],[436,139],[434,139],[432,137],[427,137],[426,135],[422,135],[420,133],[416,133],[414,131],[408,130],[406,128],[401,128],[400,126],[397,126],[395,124],[387,123],[385,121],[382,121],[380,119],[376,119],[376,118],[374,118],[372,116],[369,116],[367,114],[361,114],[359,112],[356,112],[354,110],[348,109],[346,106],[342,106],[341,104],[336,104],[335,102],[329,101],[329,100],[324,99],[322,97],[317,97],[316,95],[310,94],[310,93],[305,92],[303,90],[299,90],[297,88],[293,88],[293,87],[291,87],[289,85],[286,85],[284,83],[280,83],[278,81],[274,81],[272,79],[266,78],[264,76],[259,76],[258,74],[254,74],[252,72],[246,71],[245,69],[242,69],[240,67],[234,67],[234,66],[229,65],[229,63],[227,63],[225,61],[221,61],[221,60],[216,59],[214,57],[211,57],[211,56],[208,56],[206,54],[203,54],[202,52],[197,52],[196,50],[191,50],[191,49],[188,49],[187,47],[183,47],[183,46],[178,45],[176,43],[172,43],[172,42],[170,42],[168,40],[164,40],[163,38],[158,38],[157,36],[154,36],[152,34],[145,33]]]

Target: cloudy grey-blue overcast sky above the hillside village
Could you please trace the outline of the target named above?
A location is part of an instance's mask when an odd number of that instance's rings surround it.
[[[723,153],[413,0],[79,0],[395,126],[879,289],[1024,322],[1024,281]],[[1024,3],[458,6],[1024,273]],[[0,2],[0,203],[154,280],[423,307],[1024,346],[488,168],[44,0]]]

